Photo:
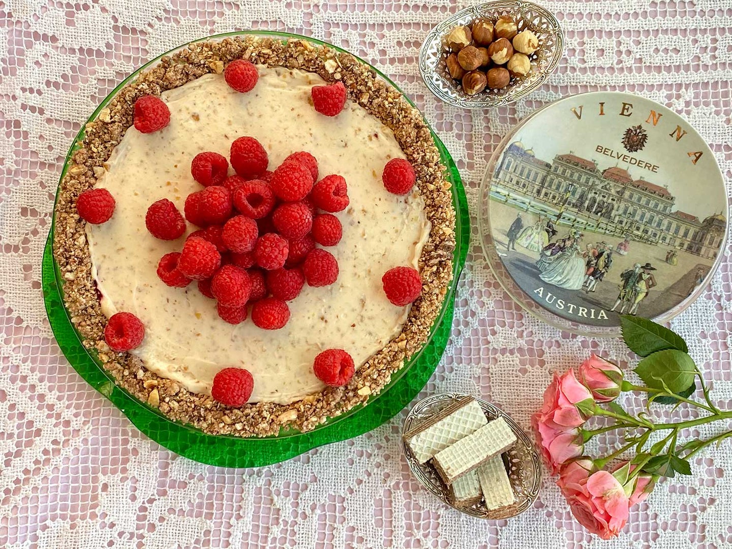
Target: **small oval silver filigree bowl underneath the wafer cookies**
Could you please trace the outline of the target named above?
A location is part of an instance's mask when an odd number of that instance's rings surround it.
[[[404,419],[402,435],[408,433],[420,423],[427,421],[446,406],[467,396],[461,393],[446,393],[444,395],[433,395],[419,400]],[[453,509],[458,509],[458,511],[464,512],[466,515],[488,520],[512,518],[529,509],[539,496],[539,489],[542,485],[541,460],[539,459],[537,450],[534,448],[534,443],[523,432],[523,429],[521,429],[518,423],[511,419],[506,412],[493,406],[488,401],[482,400],[479,397],[474,398],[478,401],[481,408],[483,408],[489,420],[496,419],[499,416],[503,417],[516,435],[516,444],[506,452],[508,457],[509,479],[511,480],[511,486],[516,497],[516,501],[512,505],[494,510],[486,509],[482,502],[471,506],[455,505],[449,497],[449,488],[442,482],[436,469],[430,463],[418,463],[411,449],[406,444],[406,441],[404,441],[404,438],[402,438],[402,452],[406,458],[409,470],[419,480],[420,484]]]

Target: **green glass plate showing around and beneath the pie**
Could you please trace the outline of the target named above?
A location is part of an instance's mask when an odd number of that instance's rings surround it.
[[[288,38],[310,40],[318,45],[328,45],[330,48],[343,51],[340,48],[320,42],[307,37],[295,34],[277,32],[249,31],[240,33],[218,34],[203,40],[220,40],[224,37],[241,34],[255,34],[258,36],[280,37],[283,40]],[[182,46],[184,47],[184,46]],[[175,50],[164,53],[171,55]],[[160,56],[162,57],[162,56]],[[125,79],[111,94],[101,103],[97,111],[89,118],[89,121],[96,118],[97,113],[111,101],[117,91],[132,81],[141,70],[150,67],[160,57],[149,61],[143,67],[133,72]],[[362,60],[361,60],[362,61]],[[365,61],[362,61],[365,63]],[[376,69],[375,69],[376,70]],[[386,75],[376,71],[389,82],[395,89],[399,89]],[[405,96],[406,97],[406,96]],[[407,98],[408,99],[408,98]],[[411,102],[411,101],[410,101]],[[412,103],[414,105],[414,103]],[[86,125],[86,124],[85,124]],[[445,149],[444,144],[433,132],[435,144],[438,147],[444,165],[447,166],[446,175],[452,183],[453,203],[455,205],[456,223],[455,233],[457,246],[455,247],[453,281],[449,292],[445,297],[444,305],[430,333],[430,339],[419,353],[414,354],[401,370],[392,376],[392,381],[374,395],[366,405],[356,406],[346,414],[329,419],[324,425],[307,433],[300,433],[296,430],[288,430],[280,433],[279,436],[263,438],[241,438],[236,436],[212,436],[203,433],[201,430],[179,422],[173,422],[165,417],[157,408],[141,402],[124,389],[114,384],[113,378],[98,362],[93,351],[87,351],[81,344],[81,336],[72,325],[67,311],[63,305],[61,273],[56,261],[53,259],[53,230],[55,228],[55,214],[51,224],[51,232],[46,241],[42,264],[42,287],[45,300],[46,313],[59,343],[61,351],[69,360],[74,369],[94,389],[107,397],[119,408],[146,436],[152,438],[158,444],[171,449],[186,458],[223,467],[258,467],[271,463],[293,458],[296,455],[307,452],[312,448],[329,444],[331,442],[343,441],[354,436],[359,436],[370,431],[395,416],[404,406],[419,393],[427,383],[435,370],[437,363],[444,352],[452,329],[453,301],[455,299],[455,286],[457,285],[460,272],[465,264],[468,253],[468,240],[470,238],[470,221],[468,217],[468,205],[465,190],[460,181],[458,168]],[[76,136],[69,154],[67,155],[64,170],[61,173],[63,179],[72,152],[78,148],[83,139],[83,129]],[[58,195],[56,195],[58,200]],[[55,212],[55,209],[54,209]]]

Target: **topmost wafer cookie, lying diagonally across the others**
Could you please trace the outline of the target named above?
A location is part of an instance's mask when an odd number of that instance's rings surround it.
[[[493,419],[474,433],[437,452],[435,468],[446,484],[512,447],[516,436],[503,418]]]

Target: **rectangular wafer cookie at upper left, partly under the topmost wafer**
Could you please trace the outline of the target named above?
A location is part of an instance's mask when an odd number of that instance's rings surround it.
[[[419,463],[468,436],[488,423],[483,409],[473,397],[447,406],[426,422],[405,433],[404,440]]]

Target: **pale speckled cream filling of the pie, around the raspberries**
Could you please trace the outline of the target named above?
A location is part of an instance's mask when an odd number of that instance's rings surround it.
[[[254,378],[250,402],[290,403],[324,388],[313,374],[319,352],[346,349],[360,367],[400,332],[409,308],[389,303],[381,276],[394,266],[417,267],[430,223],[416,188],[397,196],[381,183],[386,162],[404,157],[389,128],[351,101],[338,116],[317,113],[310,88],[324,83],[318,75],[283,67],[258,71],[257,86],[247,94],[229,88],[223,75],[165,91],[170,124],[151,134],[127,130],[97,183],[116,199],[114,215],[86,231],[102,311],[128,311],[143,321],[145,339],[130,352],[149,370],[210,394],[221,368],[244,367]],[[288,302],[291,318],[280,330],[259,329],[248,318],[226,324],[195,282],[183,289],[163,284],[157,262],[180,251],[184,237],[165,242],[145,227],[154,201],[168,198],[183,212],[186,196],[201,190],[190,175],[195,154],[228,158],[231,142],[242,135],[262,143],[269,169],[307,151],[318,160],[319,177],[338,173],[348,183],[351,203],[335,214],[343,239],[326,248],[337,258],[338,280],[323,288],[306,284]],[[196,229],[189,224],[187,232]]]

